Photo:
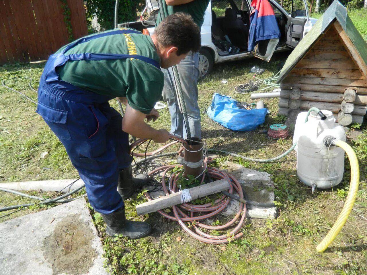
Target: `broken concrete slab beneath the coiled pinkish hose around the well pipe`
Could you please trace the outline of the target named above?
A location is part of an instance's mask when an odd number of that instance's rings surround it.
[[[244,168],[242,165],[235,164],[230,161],[224,162],[223,166],[226,167],[226,170],[228,170],[231,175],[236,177],[236,179],[240,182],[243,190],[246,192],[248,199],[250,199],[251,201],[273,202],[275,200],[274,183],[268,173]],[[147,189],[149,190],[149,187]],[[153,187],[150,187],[150,190],[152,189]],[[163,191],[150,192],[149,194],[150,197],[152,197],[153,199],[164,196]],[[221,212],[221,214],[226,216],[233,216],[238,212],[239,206],[239,202],[231,199],[230,203]],[[276,208],[248,205],[247,217],[259,219],[275,219]]]

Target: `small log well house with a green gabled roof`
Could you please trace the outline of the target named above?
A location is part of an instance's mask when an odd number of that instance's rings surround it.
[[[367,44],[335,0],[281,70],[279,114],[294,124],[301,111],[330,110],[340,125],[362,124],[367,110]]]

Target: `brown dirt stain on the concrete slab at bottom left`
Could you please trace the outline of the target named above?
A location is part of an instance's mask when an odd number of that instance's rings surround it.
[[[92,229],[76,214],[60,220],[43,241],[43,256],[52,266],[53,275],[87,273],[98,256],[92,247],[94,237]]]

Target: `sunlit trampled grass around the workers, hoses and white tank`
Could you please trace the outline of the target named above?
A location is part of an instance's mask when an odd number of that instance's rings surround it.
[[[200,82],[203,138],[209,148],[268,158],[279,155],[291,146],[291,137],[276,141],[267,139],[257,131],[233,132],[206,115],[214,92],[230,95],[240,101],[255,102],[250,100],[249,94],[236,94],[235,86],[251,80],[252,76],[248,72],[252,66],[264,67],[266,72],[262,77],[270,77],[284,59],[283,54],[275,56],[271,63],[250,59],[217,65],[214,72]],[[0,67],[0,78],[5,79],[10,87],[36,100],[36,93],[29,89],[29,80],[24,77],[34,78],[32,85],[37,87],[43,66],[44,63],[3,66]],[[222,80],[228,80],[228,84],[222,84]],[[278,99],[264,101],[271,112],[264,128],[283,122],[284,117],[277,116]],[[111,104],[117,107],[115,101]],[[0,87],[0,106],[0,181],[73,179],[78,176],[62,144],[39,115],[34,113],[33,103]],[[169,129],[167,108],[161,110],[160,114],[161,118],[152,125]],[[344,180],[337,188],[320,190],[316,195],[311,195],[310,189],[297,179],[296,155],[292,152],[281,161],[270,164],[229,158],[245,167],[270,173],[279,203],[277,219],[247,219],[243,227],[244,238],[229,245],[214,246],[196,241],[184,234],[177,223],[163,219],[157,213],[138,217],[134,209],[140,201],[135,199],[126,203],[128,216],[152,223],[152,236],[141,240],[110,238],[105,234],[101,216],[91,210],[106,257],[109,258],[106,264],[112,274],[366,274],[366,125],[362,125],[361,130],[362,134],[357,140],[349,140],[359,156],[361,168],[357,203],[341,233],[325,253],[317,253],[315,247],[333,225],[348,194],[349,162],[346,159]],[[353,133],[354,130],[350,135]],[[155,144],[151,147],[154,148]],[[41,157],[43,152],[48,152],[44,158]],[[224,159],[227,157],[221,160]],[[29,193],[39,195],[37,192]],[[1,207],[27,202],[29,200],[17,195],[0,193]],[[42,206],[25,209],[1,218],[0,222],[43,209]],[[1,214],[6,213],[9,212]],[[218,216],[215,223],[221,222],[223,219]]]

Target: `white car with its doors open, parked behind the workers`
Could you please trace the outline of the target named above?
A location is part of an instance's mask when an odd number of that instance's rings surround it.
[[[131,27],[140,31],[147,29],[149,34],[152,34],[158,6],[154,0],[147,1],[149,2],[147,10],[151,11],[147,20],[119,24],[119,27]],[[298,0],[298,3],[291,8],[292,11],[294,8],[297,10],[291,14],[288,14],[276,0],[268,1],[276,16],[281,34],[280,39],[279,41],[260,41],[255,52],[247,50],[250,14],[253,9],[250,6],[251,0],[210,1],[201,27],[199,79],[206,77],[212,71],[213,65],[217,63],[254,56],[269,61],[273,52],[295,48],[317,21],[309,17],[308,8],[305,8],[307,7],[306,0]],[[146,30],[145,33],[147,33]]]

